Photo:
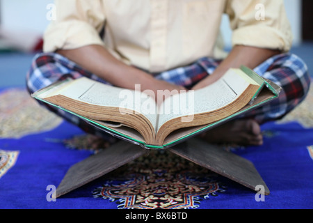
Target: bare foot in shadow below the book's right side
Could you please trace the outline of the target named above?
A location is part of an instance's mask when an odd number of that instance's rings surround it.
[[[239,146],[261,146],[263,136],[259,123],[252,119],[241,119],[220,125],[200,136],[214,144],[237,144]]]

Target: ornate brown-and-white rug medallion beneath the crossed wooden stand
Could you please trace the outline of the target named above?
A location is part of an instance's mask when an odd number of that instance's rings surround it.
[[[105,176],[93,196],[121,209],[189,209],[224,190],[213,172],[172,153],[152,151]]]

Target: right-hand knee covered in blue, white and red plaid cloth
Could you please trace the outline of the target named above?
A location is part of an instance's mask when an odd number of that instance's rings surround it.
[[[264,75],[282,87],[278,99],[259,109],[256,114],[260,123],[280,119],[303,100],[310,90],[310,75],[305,62],[295,54],[280,54],[271,59]]]

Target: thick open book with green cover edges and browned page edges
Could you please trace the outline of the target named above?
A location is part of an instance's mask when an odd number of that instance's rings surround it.
[[[279,89],[241,67],[228,70],[204,89],[170,93],[162,103],[149,92],[120,89],[86,77],[56,82],[32,96],[115,137],[145,148],[167,148],[264,105],[278,97]]]

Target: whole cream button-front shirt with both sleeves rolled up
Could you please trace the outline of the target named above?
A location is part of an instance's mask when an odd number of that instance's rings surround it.
[[[161,72],[203,56],[223,58],[223,13],[233,45],[290,49],[283,0],[56,0],[44,51],[104,45],[125,63]]]

